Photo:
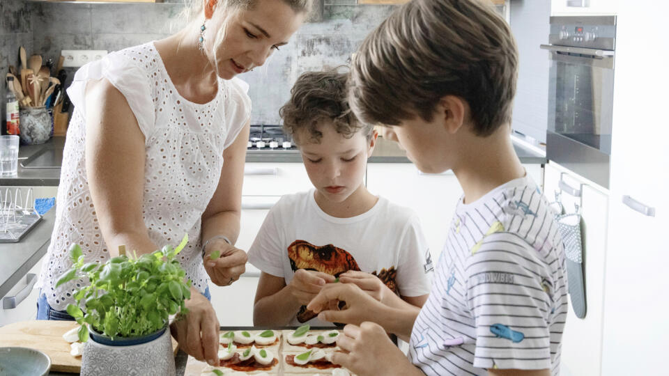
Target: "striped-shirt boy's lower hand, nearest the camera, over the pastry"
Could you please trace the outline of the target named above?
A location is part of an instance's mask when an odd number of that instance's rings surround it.
[[[334,352],[332,361],[356,375],[420,375],[374,322],[363,322],[360,327],[346,325],[337,345],[343,351]]]

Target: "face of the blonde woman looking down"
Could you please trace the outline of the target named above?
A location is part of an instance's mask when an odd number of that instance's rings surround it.
[[[256,0],[252,9],[240,10],[226,26],[225,11],[215,10],[205,31],[205,48],[210,61],[217,62],[222,79],[263,65],[272,52],[286,45],[305,19],[305,12],[295,13],[283,0]],[[216,46],[216,33],[222,27],[226,28],[224,37]]]

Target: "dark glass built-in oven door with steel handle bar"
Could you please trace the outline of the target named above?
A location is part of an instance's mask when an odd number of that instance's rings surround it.
[[[608,187],[614,52],[541,48],[551,52],[546,156]]]

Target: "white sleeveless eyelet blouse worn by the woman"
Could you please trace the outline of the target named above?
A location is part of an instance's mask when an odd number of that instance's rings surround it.
[[[142,213],[149,237],[159,247],[189,242],[179,253],[186,276],[203,292],[208,275],[200,248],[201,215],[220,178],[223,150],[249,120],[248,85],[240,79],[218,80],[216,97],[197,104],[177,93],[153,42],[130,47],[84,65],[68,95],[75,104],[63,152],[56,199],[56,222],[38,286],[52,308],[74,303],[72,292],[86,283],[74,280],[55,288],[72,266],[68,249],[78,243],[86,262],[105,262],[109,250],[91,201],[84,158],[84,92],[91,79],[109,80],[128,101],[144,134],[144,198]]]

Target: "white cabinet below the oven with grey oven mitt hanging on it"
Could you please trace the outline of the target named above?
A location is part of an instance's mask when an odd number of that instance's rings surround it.
[[[567,322],[562,334],[560,375],[602,375],[608,191],[553,162],[546,164],[544,171],[544,194],[548,201],[555,201],[555,191],[561,191],[560,202],[564,205],[565,212],[575,212],[577,204],[583,219],[583,278],[587,309],[585,318],[577,318],[571,307],[571,299],[569,300]],[[560,189],[560,180],[574,191],[569,188]]]

